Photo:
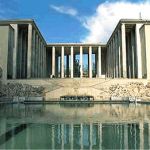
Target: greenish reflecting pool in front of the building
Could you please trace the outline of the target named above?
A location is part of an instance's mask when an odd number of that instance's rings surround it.
[[[2,149],[150,149],[150,105],[0,105]]]

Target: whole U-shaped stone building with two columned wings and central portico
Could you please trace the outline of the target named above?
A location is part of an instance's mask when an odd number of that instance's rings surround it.
[[[149,41],[150,21],[142,19],[121,19],[106,44],[46,43],[34,20],[1,20],[2,79],[150,79]]]

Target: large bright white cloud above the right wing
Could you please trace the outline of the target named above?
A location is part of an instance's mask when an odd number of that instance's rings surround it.
[[[105,2],[100,4],[93,16],[84,20],[83,26],[89,31],[81,42],[106,43],[120,19],[150,19],[150,2]]]

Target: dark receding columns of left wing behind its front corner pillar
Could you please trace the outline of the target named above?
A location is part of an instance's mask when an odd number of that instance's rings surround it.
[[[29,51],[32,59],[28,60],[28,78],[42,78],[46,76],[46,45],[36,30],[31,32],[32,46]]]

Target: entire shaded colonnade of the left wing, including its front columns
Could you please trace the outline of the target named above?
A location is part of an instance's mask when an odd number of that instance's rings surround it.
[[[12,24],[12,27],[14,29],[13,79],[45,77],[46,43],[37,29],[30,23]]]

